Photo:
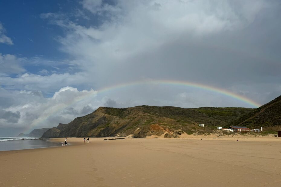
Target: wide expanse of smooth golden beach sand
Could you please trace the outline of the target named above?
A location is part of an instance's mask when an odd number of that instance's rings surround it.
[[[0,186],[281,186],[281,138],[67,139],[0,151]]]

